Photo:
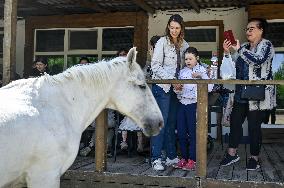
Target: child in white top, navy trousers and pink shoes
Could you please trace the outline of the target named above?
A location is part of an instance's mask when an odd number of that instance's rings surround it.
[[[180,71],[179,79],[209,79],[207,70],[199,62],[198,51],[189,47],[184,52],[185,67]],[[211,91],[213,84],[208,85]],[[183,170],[194,170],[196,161],[196,107],[197,85],[184,84],[182,89],[175,91],[180,101],[177,111],[177,135],[182,159],[174,165]],[[188,148],[190,141],[190,147]],[[188,154],[189,151],[189,154]]]

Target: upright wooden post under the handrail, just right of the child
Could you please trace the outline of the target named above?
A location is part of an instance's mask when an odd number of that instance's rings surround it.
[[[208,136],[208,86],[197,85],[196,176],[206,177]]]

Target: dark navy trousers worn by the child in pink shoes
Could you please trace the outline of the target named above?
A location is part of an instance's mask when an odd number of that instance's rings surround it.
[[[177,132],[181,156],[196,161],[196,108],[197,103],[180,104],[177,112]]]

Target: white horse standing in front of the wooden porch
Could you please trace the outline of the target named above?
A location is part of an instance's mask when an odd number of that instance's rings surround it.
[[[160,109],[136,61],[127,57],[74,66],[0,89],[0,187],[24,182],[58,188],[74,162],[82,132],[104,109],[131,117],[147,135],[163,126]]]

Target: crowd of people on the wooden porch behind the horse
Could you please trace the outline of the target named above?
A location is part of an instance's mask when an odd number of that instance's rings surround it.
[[[253,18],[248,21],[245,30],[247,42],[232,44],[223,42],[223,60],[235,65],[236,79],[239,80],[272,80],[272,59],[274,48],[272,43],[265,39],[266,21]],[[185,41],[185,26],[183,18],[172,15],[166,25],[164,36],[153,36],[149,42],[150,65],[146,66],[145,74],[151,79],[210,79],[208,65],[200,62],[199,52]],[[126,56],[127,50],[121,49],[117,56]],[[81,57],[79,64],[91,63],[88,57]],[[210,68],[210,67],[209,67]],[[49,73],[48,63],[44,58],[37,58],[29,77],[38,77]],[[208,91],[213,88],[208,85]],[[267,121],[267,111],[275,110],[276,91],[271,85],[265,86],[263,100],[249,100],[242,96],[244,85],[236,85],[230,113],[230,134],[228,150],[221,166],[229,166],[239,161],[237,152],[242,136],[242,124],[247,118],[250,143],[250,154],[247,170],[256,170],[260,167],[259,154],[261,144],[261,123]],[[164,119],[164,127],[157,136],[150,139],[151,164],[157,171],[166,166],[173,166],[183,170],[194,170],[196,164],[196,84],[153,84],[152,93],[160,107]],[[119,120],[121,130],[121,150],[128,148],[128,131],[137,132],[137,151],[144,149],[141,129],[128,117],[121,114],[114,115],[109,111],[109,119]],[[110,121],[111,121],[110,120]],[[110,128],[114,127],[115,122]],[[111,150],[114,132],[109,131],[108,151]],[[177,138],[176,138],[177,135]],[[89,145],[81,147],[80,154],[87,155],[94,147],[94,134]],[[178,156],[178,140],[181,156]],[[86,149],[87,148],[87,149]],[[110,154],[110,156],[112,156]]]

